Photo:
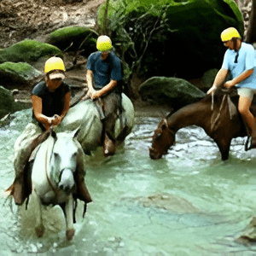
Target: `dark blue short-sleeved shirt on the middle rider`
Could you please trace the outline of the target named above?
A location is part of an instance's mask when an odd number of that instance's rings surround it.
[[[100,51],[92,53],[87,62],[87,69],[93,73],[96,89],[101,89],[110,80],[119,81],[123,79],[119,57],[113,52],[110,52],[108,58],[102,61],[101,55],[102,53]]]

